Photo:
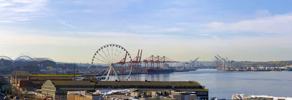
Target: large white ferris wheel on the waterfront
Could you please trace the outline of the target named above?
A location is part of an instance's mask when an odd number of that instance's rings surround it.
[[[94,67],[96,73],[93,71]],[[132,72],[132,58],[124,47],[107,44],[93,55],[91,70],[98,80],[128,81]]]

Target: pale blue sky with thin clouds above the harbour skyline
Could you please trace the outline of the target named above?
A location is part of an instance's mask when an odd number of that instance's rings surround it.
[[[291,0],[0,0],[0,55],[90,62],[102,45],[177,61],[292,59]]]

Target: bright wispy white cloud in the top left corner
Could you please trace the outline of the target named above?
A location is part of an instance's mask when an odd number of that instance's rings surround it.
[[[44,15],[46,0],[7,0],[0,2],[0,22],[34,20]]]

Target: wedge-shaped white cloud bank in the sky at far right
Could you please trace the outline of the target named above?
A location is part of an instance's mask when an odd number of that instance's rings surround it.
[[[203,29],[202,32],[207,33],[256,32],[263,34],[291,34],[292,14],[261,17],[254,20],[243,20],[236,23],[212,22],[205,26],[206,29]]]

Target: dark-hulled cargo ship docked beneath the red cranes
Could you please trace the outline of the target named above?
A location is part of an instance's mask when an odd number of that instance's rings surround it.
[[[164,64],[163,68],[147,69],[147,74],[171,73],[174,69],[169,69],[168,64]]]

